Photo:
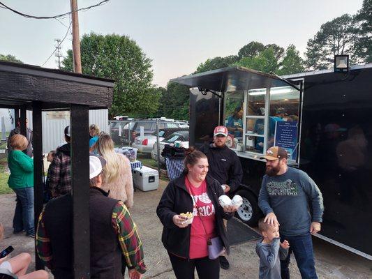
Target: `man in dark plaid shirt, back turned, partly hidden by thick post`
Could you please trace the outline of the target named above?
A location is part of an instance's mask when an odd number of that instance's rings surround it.
[[[59,146],[47,173],[50,197],[59,197],[71,191],[70,126],[64,130],[66,144]]]

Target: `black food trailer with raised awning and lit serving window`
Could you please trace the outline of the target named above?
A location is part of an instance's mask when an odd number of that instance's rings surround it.
[[[319,70],[278,77],[240,66],[172,80],[190,87],[190,145],[228,127],[228,146],[244,169],[237,212],[256,225],[262,156],[273,145],[307,172],[325,204],[318,236],[372,259],[372,64],[346,74]]]

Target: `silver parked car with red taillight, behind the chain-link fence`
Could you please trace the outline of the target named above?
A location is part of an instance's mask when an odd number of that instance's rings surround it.
[[[165,137],[168,137],[169,135],[172,135],[175,132],[178,131],[188,131],[188,128],[164,128],[159,130],[159,141],[165,139]],[[152,133],[151,135],[144,135],[143,137],[138,136],[135,137],[135,140],[132,144],[132,147],[135,147],[138,149],[138,151],[142,153],[151,153],[153,146],[156,142],[156,131]]]

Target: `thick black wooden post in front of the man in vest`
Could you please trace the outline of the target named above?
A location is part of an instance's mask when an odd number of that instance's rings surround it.
[[[70,105],[74,278],[90,278],[89,107]]]

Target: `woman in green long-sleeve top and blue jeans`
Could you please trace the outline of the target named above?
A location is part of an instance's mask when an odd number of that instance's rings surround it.
[[[8,154],[8,186],[17,195],[13,232],[17,234],[26,231],[27,236],[34,237],[34,160],[22,152],[28,144],[23,135],[17,134],[10,138],[13,150]]]

